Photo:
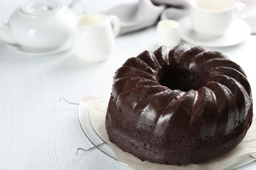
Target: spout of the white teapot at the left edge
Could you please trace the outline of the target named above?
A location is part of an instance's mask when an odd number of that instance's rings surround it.
[[[16,40],[14,40],[9,24],[0,22],[0,38],[2,38],[7,44],[17,44]]]

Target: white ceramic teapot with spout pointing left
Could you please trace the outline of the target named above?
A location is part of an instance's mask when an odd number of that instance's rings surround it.
[[[0,22],[0,37],[7,43],[32,50],[50,50],[71,44],[72,24],[76,13],[72,8],[85,4],[73,0],[69,7],[55,0],[32,0],[16,9],[9,23]]]

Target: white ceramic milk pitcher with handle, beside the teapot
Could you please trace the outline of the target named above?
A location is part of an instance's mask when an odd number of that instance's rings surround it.
[[[119,31],[120,20],[114,15],[82,15],[73,27],[75,55],[87,62],[107,60],[115,47],[115,37]]]

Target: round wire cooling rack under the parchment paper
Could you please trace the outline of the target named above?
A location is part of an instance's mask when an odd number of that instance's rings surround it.
[[[87,110],[83,110],[85,111],[86,113],[86,121],[87,121],[87,124],[89,124],[90,126],[90,134],[89,132],[86,132],[83,128],[83,125],[81,124],[81,119],[80,119],[80,116],[81,116],[81,112],[82,112],[82,109],[81,109],[81,104],[79,103],[73,103],[73,102],[69,102],[67,99],[65,99],[64,97],[61,97],[60,98],[60,102],[61,102],[61,99],[63,99],[65,102],[67,102],[67,104],[74,104],[74,105],[77,105],[78,106],[78,121],[79,121],[79,125],[81,127],[81,130],[83,131],[83,134],[85,135],[85,137],[90,141],[90,143],[92,143],[93,147],[92,148],[88,148],[88,149],[83,149],[83,148],[77,148],[76,150],[76,155],[78,155],[78,152],[79,150],[82,150],[83,152],[88,152],[90,150],[94,150],[94,149],[98,149],[100,150],[104,155],[112,158],[113,160],[115,161],[118,161],[119,163],[123,163],[124,165],[127,165],[127,163],[124,163],[123,161],[120,161],[118,160],[116,157],[115,157],[115,154],[112,152],[112,153],[108,153],[106,150],[103,150],[101,148],[101,146],[103,145],[107,145],[107,142],[99,135],[99,133],[97,132],[97,130],[95,130],[94,126],[92,125],[92,121],[90,119],[90,113],[87,111]],[[93,137],[94,136],[94,137]],[[97,137],[101,142],[99,144],[96,144],[96,142],[94,142],[95,140],[95,137]],[[110,147],[108,146],[108,148],[110,149]],[[111,150],[111,149],[110,149]],[[252,154],[252,155],[249,155],[249,157],[235,163],[234,165],[231,165],[229,166],[228,168],[225,168],[225,170],[238,170],[239,168],[242,168],[242,167],[245,167],[245,166],[248,166],[249,164],[251,163],[254,163],[256,162],[256,153]]]

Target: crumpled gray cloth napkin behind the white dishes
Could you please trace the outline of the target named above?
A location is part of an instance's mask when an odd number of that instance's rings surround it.
[[[134,3],[120,4],[108,11],[106,15],[117,15],[121,21],[121,31],[125,34],[152,26],[158,20],[179,18],[189,15],[190,0],[139,0]],[[246,4],[247,9],[240,18],[245,20],[256,33],[256,0],[239,0]]]

